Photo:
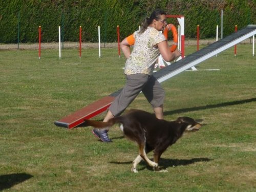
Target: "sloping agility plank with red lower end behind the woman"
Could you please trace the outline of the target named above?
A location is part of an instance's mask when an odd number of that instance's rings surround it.
[[[238,44],[239,42],[256,34],[256,25],[249,25],[244,29],[239,30],[236,33],[214,42],[213,44],[191,54],[182,60],[172,63],[160,71],[157,71],[153,75],[158,79],[159,82],[163,82],[170,77],[173,77],[193,66],[198,65],[200,62],[217,55],[218,53]],[[122,90],[122,89],[121,89]],[[72,129],[83,123],[84,119],[90,119],[109,108],[115,97],[121,92],[121,90],[106,96],[94,103],[84,107],[83,109],[63,118],[55,121],[54,124],[57,126],[68,127]]]

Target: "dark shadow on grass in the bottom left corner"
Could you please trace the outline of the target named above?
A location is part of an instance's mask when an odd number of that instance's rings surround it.
[[[0,175],[0,191],[11,188],[12,186],[22,183],[32,177],[32,175],[25,173]]]

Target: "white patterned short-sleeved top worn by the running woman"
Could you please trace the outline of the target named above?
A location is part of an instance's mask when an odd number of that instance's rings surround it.
[[[147,27],[142,34],[138,32],[134,32],[135,44],[130,57],[125,62],[125,75],[138,73],[151,75],[160,55],[157,44],[166,40],[161,31],[153,27]]]

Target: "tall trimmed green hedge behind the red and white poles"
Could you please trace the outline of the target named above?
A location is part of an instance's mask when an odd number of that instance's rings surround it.
[[[138,29],[142,20],[155,8],[168,14],[185,16],[186,38],[196,37],[200,25],[201,38],[216,36],[216,25],[221,26],[221,10],[224,11],[223,35],[256,24],[256,3],[253,0],[12,0],[1,1],[0,43],[37,42],[41,26],[42,41],[58,41],[58,26],[65,41],[117,41],[116,28],[120,26],[120,38]],[[169,23],[178,25],[177,19]],[[19,30],[18,30],[19,29]],[[18,35],[19,32],[19,35]]]

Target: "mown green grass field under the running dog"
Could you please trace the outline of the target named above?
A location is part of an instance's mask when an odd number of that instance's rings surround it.
[[[256,58],[238,45],[162,83],[164,116],[204,119],[162,155],[167,173],[145,162],[131,172],[137,145],[118,126],[102,143],[92,127],[54,125],[122,88],[125,59],[117,49],[0,51],[0,190],[256,191]],[[186,48],[186,54],[196,47]],[[220,71],[203,71],[220,69]],[[201,71],[200,71],[201,70]],[[129,109],[152,112],[143,95]],[[94,119],[102,119],[101,114]],[[152,158],[152,153],[148,155]]]

